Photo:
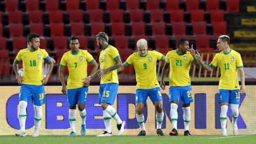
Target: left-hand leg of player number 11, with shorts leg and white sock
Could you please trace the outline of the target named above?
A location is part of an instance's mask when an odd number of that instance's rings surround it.
[[[221,125],[221,134],[227,136],[227,112],[229,108],[229,90],[219,90],[219,103],[221,105],[220,111],[220,125]]]

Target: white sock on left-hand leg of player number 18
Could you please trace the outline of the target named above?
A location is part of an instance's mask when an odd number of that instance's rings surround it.
[[[20,121],[20,127],[21,130],[25,131],[25,123],[26,123],[26,118],[27,118],[27,101],[20,101],[20,110],[19,110],[19,121]]]

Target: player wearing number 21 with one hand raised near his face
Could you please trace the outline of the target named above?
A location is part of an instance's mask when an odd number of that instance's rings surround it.
[[[162,70],[162,77],[160,86],[165,90],[165,75],[167,74],[170,65],[170,78],[169,78],[169,101],[171,102],[171,124],[172,131],[170,135],[178,135],[177,132],[177,108],[179,100],[182,101],[183,119],[184,119],[184,135],[190,136],[189,124],[190,124],[190,103],[193,102],[189,69],[190,64],[194,63],[197,68],[200,68],[200,55],[195,53],[193,45],[191,48],[188,46],[188,41],[185,38],[178,40],[178,48],[172,50],[166,54],[165,65]],[[189,52],[188,52],[189,51]]]

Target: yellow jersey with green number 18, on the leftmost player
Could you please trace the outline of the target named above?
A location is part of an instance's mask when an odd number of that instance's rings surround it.
[[[43,60],[47,62],[51,60],[45,49],[38,48],[35,51],[31,51],[29,48],[21,49],[16,60],[22,61],[23,65],[22,84],[42,85]]]

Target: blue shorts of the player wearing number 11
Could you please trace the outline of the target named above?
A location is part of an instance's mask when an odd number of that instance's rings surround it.
[[[219,102],[240,104],[240,90],[219,90]]]

